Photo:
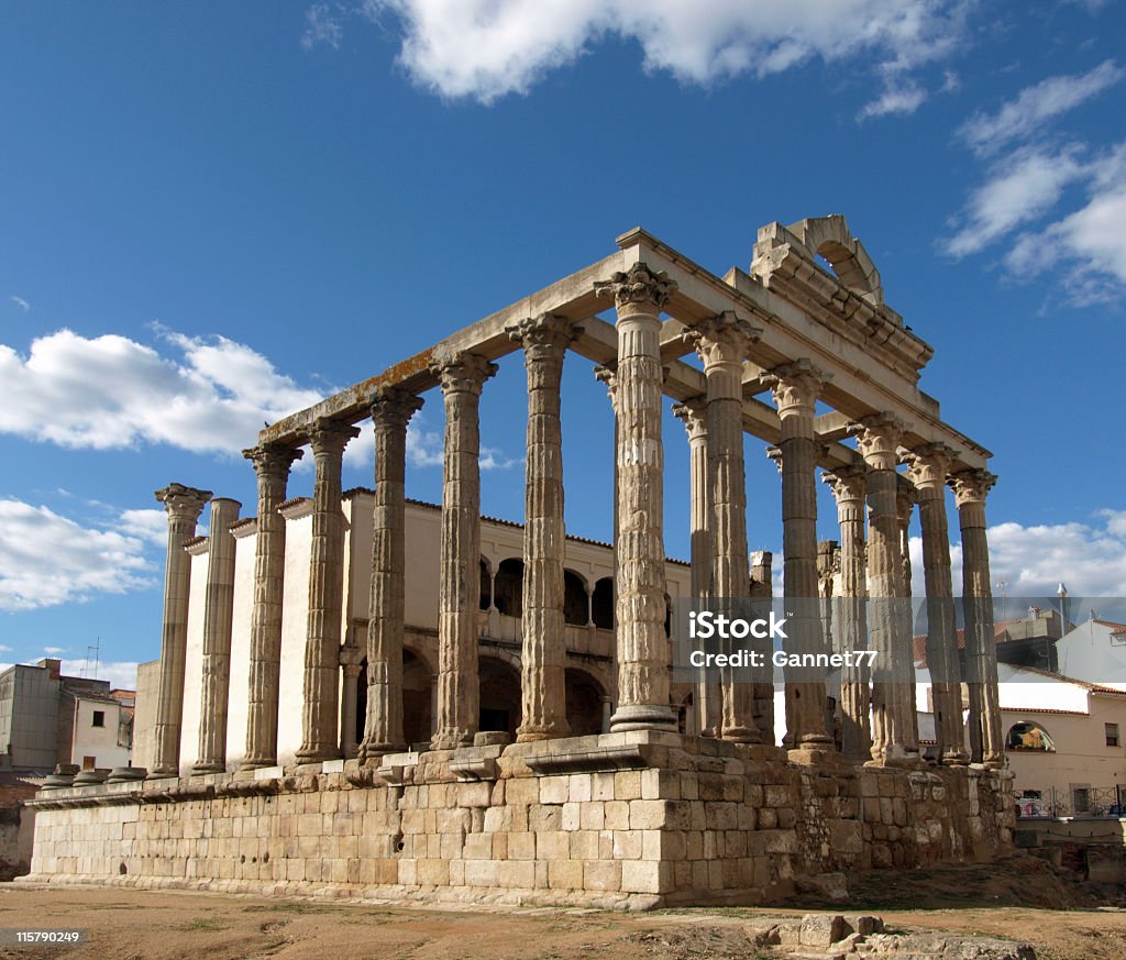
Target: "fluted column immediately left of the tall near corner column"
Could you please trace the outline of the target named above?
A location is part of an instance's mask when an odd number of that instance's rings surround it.
[[[563,431],[560,384],[572,321],[543,314],[510,328],[528,371],[528,439],[524,524],[524,643],[520,657],[521,742],[564,737],[566,637],[563,622]]]

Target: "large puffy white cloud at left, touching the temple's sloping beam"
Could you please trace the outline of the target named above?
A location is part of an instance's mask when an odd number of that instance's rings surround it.
[[[319,400],[249,347],[162,331],[176,356],[60,330],[26,357],[0,344],[0,432],[71,448],[146,441],[197,452],[252,446],[263,421]]]

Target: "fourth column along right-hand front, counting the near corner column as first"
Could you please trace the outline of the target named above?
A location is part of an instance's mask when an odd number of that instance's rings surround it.
[[[903,423],[876,413],[851,424],[868,465],[868,625],[872,648],[872,762],[913,766],[919,762],[914,720],[914,662],[903,599],[903,555],[896,508],[896,447]]]

